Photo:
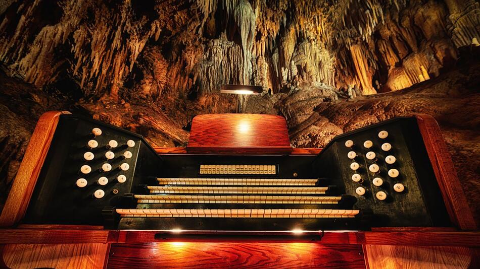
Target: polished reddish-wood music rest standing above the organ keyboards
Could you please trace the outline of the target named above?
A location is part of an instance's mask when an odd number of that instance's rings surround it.
[[[289,132],[282,116],[206,114],[194,117],[188,153],[289,154]]]

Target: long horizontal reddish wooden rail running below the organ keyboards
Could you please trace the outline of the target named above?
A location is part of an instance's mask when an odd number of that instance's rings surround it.
[[[0,244],[66,244],[66,243],[135,243],[135,242],[315,242],[320,244],[369,244],[412,246],[480,247],[480,232],[405,231],[357,232],[325,231],[309,233],[299,238],[283,234],[268,239],[261,232],[210,233],[185,231],[165,237],[165,231],[156,230],[95,230],[95,229],[0,229]],[[244,235],[255,234],[254,237]],[[257,235],[258,234],[258,235]],[[319,235],[322,236],[319,236]],[[192,236],[200,235],[200,236]],[[309,237],[315,235],[314,237]],[[315,240],[313,241],[314,238]]]

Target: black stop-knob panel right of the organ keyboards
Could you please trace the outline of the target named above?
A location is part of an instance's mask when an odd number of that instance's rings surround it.
[[[381,130],[387,130],[389,136],[380,139],[378,132]],[[354,146],[346,147],[347,140],[352,140]],[[372,148],[363,146],[367,140],[373,142]],[[382,150],[383,143],[390,143],[392,149]],[[354,160],[347,157],[350,151],[357,154]],[[369,151],[376,154],[375,162],[365,157]],[[396,157],[395,163],[386,163],[385,159],[389,155]],[[357,162],[360,168],[352,170],[352,162]],[[369,171],[371,164],[379,166],[378,174]],[[392,168],[399,171],[398,177],[388,175]],[[355,209],[371,209],[375,216],[371,223],[373,227],[450,226],[437,179],[413,117],[395,118],[336,137],[319,154],[314,169],[319,176],[343,185],[346,194],[356,197]],[[362,183],[352,180],[354,173],[361,175]],[[372,183],[375,177],[383,180],[381,186]],[[394,191],[396,183],[402,183],[405,190]],[[366,193],[356,194],[358,187],[363,187]],[[375,194],[378,191],[387,193],[387,199],[377,199]]]

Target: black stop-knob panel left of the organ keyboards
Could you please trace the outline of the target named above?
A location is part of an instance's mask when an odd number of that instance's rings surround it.
[[[94,137],[91,130],[102,129],[102,134]],[[94,139],[98,147],[86,148],[87,142]],[[118,147],[107,149],[110,140],[116,140]],[[128,147],[126,142],[133,140],[135,146]],[[125,151],[132,153],[131,158],[124,159]],[[86,161],[85,152],[92,152],[94,159]],[[115,158],[107,160],[105,153],[112,151]],[[109,163],[112,170],[101,172],[102,164]],[[127,163],[129,169],[122,171],[119,165]],[[40,171],[37,184],[32,194],[25,223],[34,224],[76,224],[103,225],[102,209],[117,205],[125,193],[130,193],[132,186],[141,183],[146,174],[154,173],[149,166],[159,167],[160,157],[155,154],[145,141],[132,132],[109,124],[74,115],[62,115],[45,162]],[[80,172],[82,165],[89,165],[91,172]],[[117,181],[118,175],[126,176],[126,181]],[[153,174],[155,175],[155,174]],[[99,185],[101,176],[108,178],[106,185]],[[79,178],[87,180],[85,187],[78,187]],[[93,197],[95,190],[105,192],[103,198]],[[115,193],[117,192],[118,193]]]

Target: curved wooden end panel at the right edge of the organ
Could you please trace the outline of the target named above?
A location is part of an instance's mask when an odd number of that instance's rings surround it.
[[[462,230],[475,230],[476,224],[458,180],[440,126],[434,117],[416,114],[423,143],[442,191],[450,219]]]

